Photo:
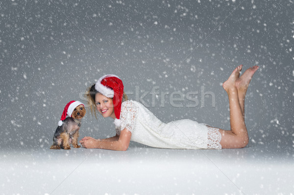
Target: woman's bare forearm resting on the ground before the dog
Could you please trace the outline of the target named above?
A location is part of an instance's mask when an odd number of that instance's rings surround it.
[[[99,149],[106,149],[106,150],[114,150],[114,151],[126,151],[130,144],[132,133],[126,128],[121,131],[118,140],[114,141],[102,141],[99,139],[82,139],[80,143],[84,148],[99,148]],[[113,137],[111,137],[113,138]]]

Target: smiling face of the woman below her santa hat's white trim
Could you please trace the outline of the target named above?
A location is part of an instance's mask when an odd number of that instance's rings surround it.
[[[113,108],[113,102],[111,98],[108,98],[101,93],[96,93],[95,95],[95,103],[96,108],[98,109],[98,112],[105,118],[105,117],[111,117],[115,118],[114,108]]]

